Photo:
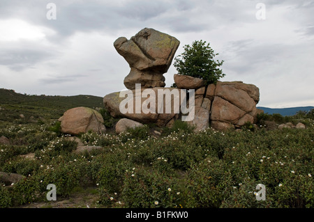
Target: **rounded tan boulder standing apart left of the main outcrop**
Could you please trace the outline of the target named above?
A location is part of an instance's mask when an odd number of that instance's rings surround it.
[[[69,109],[61,118],[61,132],[64,134],[78,135],[89,130],[99,134],[105,132],[103,116],[98,111],[88,107]]]

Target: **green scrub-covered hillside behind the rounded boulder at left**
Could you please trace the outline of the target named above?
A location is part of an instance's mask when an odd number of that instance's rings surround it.
[[[39,118],[58,119],[68,109],[78,106],[92,109],[103,108],[103,97],[94,95],[26,95],[0,88],[0,121],[26,123]],[[20,114],[23,114],[25,118],[20,118]]]

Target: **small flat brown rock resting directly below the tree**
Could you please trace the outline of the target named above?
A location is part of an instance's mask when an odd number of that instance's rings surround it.
[[[204,86],[205,81],[203,79],[190,77],[183,74],[174,74],[174,83],[178,88],[197,89]]]

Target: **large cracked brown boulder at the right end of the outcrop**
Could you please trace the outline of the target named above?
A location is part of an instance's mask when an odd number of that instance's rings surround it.
[[[242,127],[246,122],[256,122],[260,110],[260,90],[253,84],[242,81],[218,81],[207,86],[206,98],[211,104],[211,127],[227,129]]]

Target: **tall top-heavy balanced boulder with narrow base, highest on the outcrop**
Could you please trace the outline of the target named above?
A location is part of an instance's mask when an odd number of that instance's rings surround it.
[[[128,89],[135,84],[143,88],[164,87],[165,77],[171,65],[179,40],[154,29],[142,29],[128,40],[120,37],[114,42],[114,48],[130,65],[130,73],[124,79]]]

